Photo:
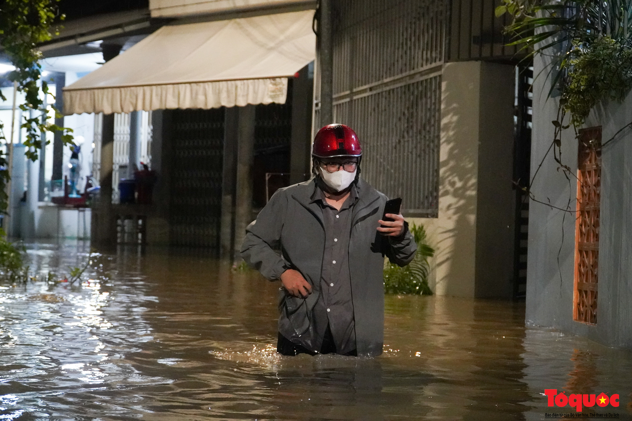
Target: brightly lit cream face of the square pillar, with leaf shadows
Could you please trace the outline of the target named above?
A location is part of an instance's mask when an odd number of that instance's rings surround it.
[[[439,153],[439,218],[419,218],[435,248],[437,295],[474,296],[480,62],[444,66]]]

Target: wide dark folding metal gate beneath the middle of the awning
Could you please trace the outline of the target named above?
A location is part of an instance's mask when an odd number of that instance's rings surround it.
[[[173,110],[170,238],[173,246],[219,246],[224,109]]]

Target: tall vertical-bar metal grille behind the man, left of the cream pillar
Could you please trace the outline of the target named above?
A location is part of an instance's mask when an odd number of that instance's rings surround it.
[[[349,0],[334,16],[334,121],[360,136],[368,182],[437,216],[446,3]]]

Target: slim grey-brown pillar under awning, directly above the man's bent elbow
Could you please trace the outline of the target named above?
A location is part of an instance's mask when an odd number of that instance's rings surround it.
[[[235,187],[234,256],[239,256],[246,227],[252,222],[252,166],[255,157],[255,106],[239,107]]]

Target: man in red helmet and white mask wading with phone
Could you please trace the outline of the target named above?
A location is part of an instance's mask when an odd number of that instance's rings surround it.
[[[359,177],[353,130],[320,129],[312,159],[315,178],[274,193],[246,229],[241,257],[283,283],[277,352],[380,355],[384,256],[410,263],[415,240],[403,216],[380,220],[386,196]]]

